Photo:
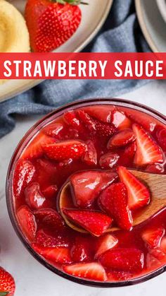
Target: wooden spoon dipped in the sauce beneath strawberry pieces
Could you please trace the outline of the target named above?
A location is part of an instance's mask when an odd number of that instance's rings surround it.
[[[148,206],[141,208],[133,215],[133,226],[139,225],[149,218],[153,217],[160,210],[166,206],[166,174],[150,174],[148,172],[141,172],[137,170],[130,170],[135,177],[140,179],[146,187],[151,191],[151,202]],[[59,196],[59,210],[63,216],[65,223],[78,232],[87,233],[82,227],[76,226],[64,215],[62,208],[72,208],[73,203],[70,193],[70,182],[65,184]],[[106,232],[120,230],[118,227],[110,227]]]

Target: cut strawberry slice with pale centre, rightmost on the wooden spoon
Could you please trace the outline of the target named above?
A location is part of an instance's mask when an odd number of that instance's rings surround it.
[[[120,181],[127,187],[129,209],[134,210],[148,205],[151,194],[146,186],[125,167],[119,167],[118,174]]]

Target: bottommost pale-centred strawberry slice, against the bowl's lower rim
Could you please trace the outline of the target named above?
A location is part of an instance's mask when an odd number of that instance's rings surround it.
[[[70,274],[71,276],[76,276],[79,278],[100,280],[102,282],[107,280],[106,271],[104,270],[103,266],[96,262],[63,266],[63,271]]]

